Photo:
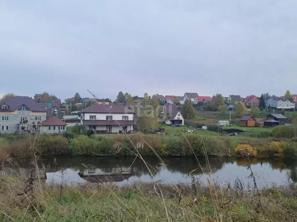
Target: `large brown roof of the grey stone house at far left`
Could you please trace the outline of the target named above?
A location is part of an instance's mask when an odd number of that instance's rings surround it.
[[[8,105],[8,109],[1,109],[2,104]],[[13,112],[19,107],[25,105],[29,110],[34,112],[46,112],[47,110],[35,102],[29,96],[15,96],[0,103],[0,111]]]

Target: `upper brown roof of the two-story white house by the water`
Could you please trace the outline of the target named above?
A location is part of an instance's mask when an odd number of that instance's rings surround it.
[[[82,113],[135,113],[124,105],[93,104],[81,111]]]

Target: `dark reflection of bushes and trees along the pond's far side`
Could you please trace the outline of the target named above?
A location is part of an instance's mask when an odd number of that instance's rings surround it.
[[[108,168],[121,168],[129,167],[135,157],[77,157],[77,156],[43,156],[40,158],[40,167],[42,164],[49,165],[48,172],[56,172],[60,168],[74,168],[80,171],[86,169],[86,165],[93,165],[97,169],[108,169]],[[55,160],[55,161],[54,161]],[[172,174],[181,174],[189,175],[189,172],[195,170],[191,173],[194,176],[200,176],[203,174],[201,168],[195,157],[163,157],[168,171],[165,171],[164,167],[160,165],[160,161],[156,157],[144,157],[147,165],[150,167],[151,173],[156,176],[160,173],[172,173]],[[206,158],[198,158],[203,171],[209,173],[208,163]],[[225,172],[225,174],[231,175],[233,171],[237,174],[244,172],[248,166],[248,160],[246,158],[235,158],[235,157],[208,157],[209,166],[211,168],[211,173],[216,173],[222,170],[224,167],[232,169],[230,172]],[[23,158],[17,160],[18,165],[21,168],[28,168],[29,158]],[[282,173],[283,170],[286,170],[284,175],[288,179],[291,179],[293,182],[297,182],[297,160],[296,159],[280,159],[280,158],[252,158],[250,159],[251,164],[254,166],[269,166],[270,172],[273,170],[278,170]],[[56,165],[54,165],[56,163]],[[9,164],[6,164],[7,167],[10,167]],[[137,158],[132,164],[133,175],[140,178],[141,176],[147,175],[151,177],[151,173],[146,168],[146,165],[140,158]],[[266,167],[267,168],[267,167]],[[234,169],[234,170],[233,170]],[[266,169],[267,170],[267,169]],[[221,173],[222,171],[220,171]],[[246,172],[244,172],[246,173]],[[235,175],[237,176],[237,175]],[[240,175],[238,175],[240,176]]]

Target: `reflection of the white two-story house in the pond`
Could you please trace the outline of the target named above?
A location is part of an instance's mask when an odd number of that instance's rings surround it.
[[[133,170],[127,167],[92,168],[80,171],[78,175],[91,183],[121,182],[134,176]]]

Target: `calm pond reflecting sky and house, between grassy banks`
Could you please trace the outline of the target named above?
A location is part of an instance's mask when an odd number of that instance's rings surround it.
[[[38,163],[47,169],[46,183],[76,185],[86,181],[116,181],[124,185],[134,181],[158,180],[161,183],[191,183],[193,177],[206,183],[210,174],[213,181],[224,186],[229,183],[233,186],[238,179],[246,188],[251,184],[253,186],[247,159],[208,157],[206,161],[200,157],[201,168],[195,157],[163,157],[165,165],[160,164],[157,157],[144,157],[144,160],[149,170],[140,158],[134,157],[43,156]],[[20,168],[29,168],[29,158],[16,161]],[[250,161],[258,187],[297,182],[296,159],[253,158]],[[6,167],[11,166],[6,164]]]

